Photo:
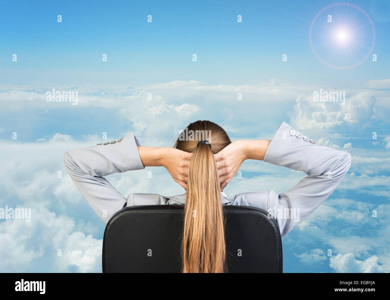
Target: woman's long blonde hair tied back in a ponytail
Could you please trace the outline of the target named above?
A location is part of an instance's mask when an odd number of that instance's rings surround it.
[[[188,125],[191,138],[178,138],[175,148],[193,153],[188,168],[184,229],[181,245],[183,273],[226,271],[225,220],[214,154],[231,143],[222,127],[211,121]],[[197,144],[204,139],[209,144]],[[203,135],[203,136],[202,136]],[[191,140],[190,140],[191,139]]]

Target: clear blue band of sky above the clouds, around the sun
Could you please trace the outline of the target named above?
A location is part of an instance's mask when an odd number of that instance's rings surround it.
[[[1,13],[0,79],[6,83],[144,84],[179,77],[208,84],[255,84],[278,78],[340,85],[343,78],[343,87],[360,87],[384,76],[389,66],[385,59],[388,2],[350,2],[375,21],[375,53],[383,66],[367,60],[354,72],[324,68],[312,55],[308,28],[317,12],[331,3],[337,2],[7,2]],[[333,14],[332,23],[324,22],[328,12]],[[57,22],[58,14],[62,23]],[[242,23],[237,22],[239,14]],[[148,15],[152,15],[151,23]],[[363,38],[370,39],[367,19],[352,7],[324,11],[314,30],[322,23],[329,27],[344,20],[360,22]],[[366,44],[359,48],[365,50]],[[13,53],[18,54],[17,66],[6,59]],[[108,55],[107,64],[101,60],[102,53]],[[193,53],[197,53],[197,64],[188,59]],[[287,54],[287,63],[282,62],[282,54]]]

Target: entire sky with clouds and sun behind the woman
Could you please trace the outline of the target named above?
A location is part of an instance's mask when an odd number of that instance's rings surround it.
[[[105,224],[64,153],[103,133],[173,146],[199,119],[231,140],[271,139],[285,121],[351,153],[337,190],[283,238],[284,272],[390,272],[388,1],[16,1],[0,17],[0,208],[31,208],[30,222],[0,219],[0,272],[101,272]],[[77,105],[46,101],[53,89]],[[345,98],[313,101],[323,91]],[[125,197],[184,193],[151,170],[106,179]],[[229,199],[305,177],[240,171]]]

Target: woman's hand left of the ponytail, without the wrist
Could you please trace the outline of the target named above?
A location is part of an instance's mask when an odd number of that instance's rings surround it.
[[[164,153],[161,165],[167,169],[174,181],[187,190],[188,166],[192,153],[169,147],[164,149]]]

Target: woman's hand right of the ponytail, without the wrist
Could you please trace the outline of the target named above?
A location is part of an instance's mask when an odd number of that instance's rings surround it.
[[[246,144],[245,140],[236,140],[214,154],[222,189],[237,174],[241,163],[248,159]]]

